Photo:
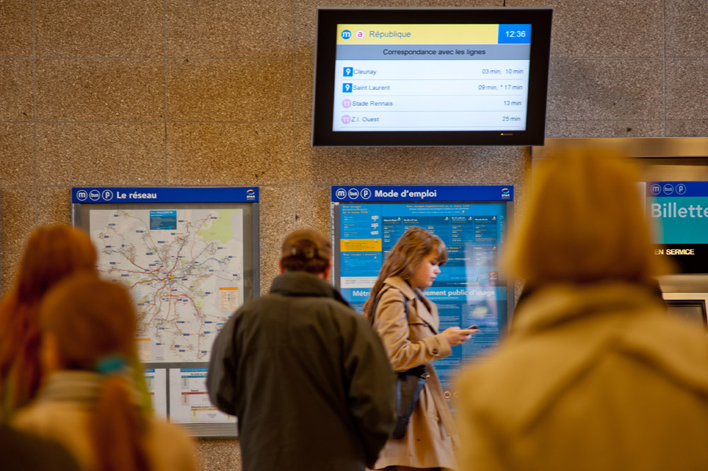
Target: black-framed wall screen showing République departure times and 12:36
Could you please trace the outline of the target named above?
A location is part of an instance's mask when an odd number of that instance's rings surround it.
[[[314,146],[543,144],[551,8],[318,8]]]

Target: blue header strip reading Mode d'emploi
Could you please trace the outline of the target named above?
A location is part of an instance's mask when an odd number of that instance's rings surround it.
[[[513,199],[513,185],[332,187],[333,202],[474,202]]]

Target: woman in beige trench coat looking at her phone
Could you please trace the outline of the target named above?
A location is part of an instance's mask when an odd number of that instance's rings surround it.
[[[374,328],[394,371],[426,365],[430,373],[406,434],[387,441],[375,469],[457,468],[452,448],[457,430],[430,363],[450,355],[451,347],[466,342],[476,330],[450,327],[438,332],[438,308],[422,290],[433,284],[446,261],[447,248],[438,236],[423,228],[410,228],[392,248],[364,306],[367,319],[374,314]]]

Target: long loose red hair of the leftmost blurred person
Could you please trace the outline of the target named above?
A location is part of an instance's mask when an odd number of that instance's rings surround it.
[[[88,234],[69,226],[36,228],[25,245],[15,284],[0,302],[0,399],[6,414],[37,394],[38,306],[48,289],[67,275],[96,271]]]

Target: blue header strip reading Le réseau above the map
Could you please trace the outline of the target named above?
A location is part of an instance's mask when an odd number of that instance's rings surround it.
[[[72,203],[257,203],[258,187],[74,187]]]

